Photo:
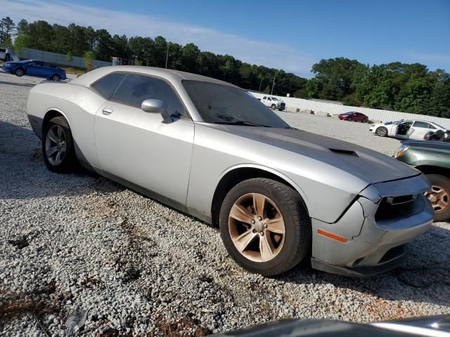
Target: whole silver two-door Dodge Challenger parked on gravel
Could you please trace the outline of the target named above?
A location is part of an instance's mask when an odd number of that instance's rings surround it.
[[[290,127],[217,79],[103,67],[34,86],[27,114],[51,171],[81,164],[216,225],[236,263],[262,275],[309,260],[340,275],[385,272],[432,223],[419,171]]]

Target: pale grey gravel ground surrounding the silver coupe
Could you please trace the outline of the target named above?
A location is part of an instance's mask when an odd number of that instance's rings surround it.
[[[213,227],[91,173],[50,173],[25,114],[39,81],[0,73],[0,335],[201,336],[291,317],[450,313],[449,223],[384,275],[252,275]],[[280,115],[388,155],[399,145],[367,124]]]

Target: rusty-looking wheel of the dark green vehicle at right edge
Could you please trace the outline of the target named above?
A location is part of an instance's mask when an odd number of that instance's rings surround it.
[[[435,215],[435,222],[450,220],[450,179],[440,174],[427,174],[431,190],[425,195],[430,199]]]

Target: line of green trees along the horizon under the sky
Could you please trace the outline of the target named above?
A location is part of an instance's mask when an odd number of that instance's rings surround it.
[[[430,71],[419,63],[391,62],[365,65],[348,58],[321,60],[312,66],[314,77],[250,65],[209,51],[195,44],[176,44],[164,37],[127,37],[111,35],[72,23],[49,24],[44,20],[17,25],[11,18],[0,21],[0,45],[34,48],[42,51],[84,56],[110,62],[117,57],[135,65],[166,67],[193,72],[231,82],[252,91],[296,98],[337,100],[345,105],[398,110],[450,118],[450,74]]]

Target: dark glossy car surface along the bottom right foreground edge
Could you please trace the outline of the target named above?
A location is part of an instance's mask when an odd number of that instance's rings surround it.
[[[332,321],[328,319],[285,319],[249,326],[238,331],[219,333],[214,336],[450,336],[450,315],[406,318],[368,324]]]

